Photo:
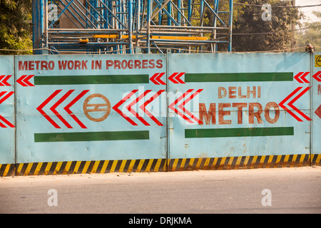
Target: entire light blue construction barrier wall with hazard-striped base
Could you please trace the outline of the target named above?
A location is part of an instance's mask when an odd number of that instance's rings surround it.
[[[0,56],[0,175],[321,165],[321,53]]]

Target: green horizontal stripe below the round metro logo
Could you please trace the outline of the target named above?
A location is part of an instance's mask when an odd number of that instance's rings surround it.
[[[34,142],[82,142],[106,140],[149,140],[148,130],[89,133],[35,133]]]

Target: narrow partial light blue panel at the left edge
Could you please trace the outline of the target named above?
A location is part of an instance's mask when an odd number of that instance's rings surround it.
[[[14,56],[0,56],[0,164],[14,164]]]

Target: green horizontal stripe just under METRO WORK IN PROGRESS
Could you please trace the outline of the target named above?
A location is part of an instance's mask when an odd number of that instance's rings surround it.
[[[36,86],[149,83],[148,74],[104,76],[35,76]]]

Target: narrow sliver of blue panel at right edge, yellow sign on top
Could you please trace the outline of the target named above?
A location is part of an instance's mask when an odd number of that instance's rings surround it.
[[[321,155],[321,52],[314,54],[312,58],[312,163],[320,165]]]

